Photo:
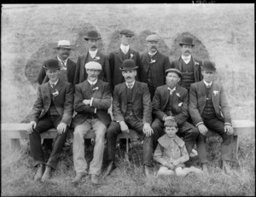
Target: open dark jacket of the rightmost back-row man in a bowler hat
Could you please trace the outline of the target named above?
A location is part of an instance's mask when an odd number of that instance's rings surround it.
[[[202,61],[194,58],[193,56],[191,56],[191,60],[194,65],[195,82],[199,82],[203,79],[203,76],[201,74]],[[182,61],[183,59],[180,56],[177,60],[172,61],[171,67],[177,68],[177,70],[182,71],[182,65],[183,65]]]

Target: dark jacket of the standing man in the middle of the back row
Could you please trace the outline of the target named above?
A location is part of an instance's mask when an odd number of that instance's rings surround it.
[[[130,59],[135,61],[135,64],[138,67],[137,76],[135,79],[140,81],[140,78],[139,78],[140,55],[137,51],[133,49],[129,49],[128,56]],[[108,56],[108,59],[109,59],[111,76],[113,76],[112,78],[112,90],[113,90],[116,84],[121,84],[125,82],[125,79],[122,75],[122,71],[119,69],[120,67],[122,67],[122,63],[123,63],[121,49],[116,49],[115,51],[111,52]]]

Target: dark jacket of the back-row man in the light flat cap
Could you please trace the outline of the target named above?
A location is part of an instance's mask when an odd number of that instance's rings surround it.
[[[140,76],[142,82],[147,83],[148,67],[151,67],[154,90],[160,85],[166,84],[166,70],[171,67],[169,58],[162,55],[159,51],[154,55],[154,63],[150,63],[148,52],[141,56]]]

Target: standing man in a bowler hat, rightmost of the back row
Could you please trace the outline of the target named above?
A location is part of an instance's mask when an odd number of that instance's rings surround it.
[[[183,78],[180,80],[180,86],[189,91],[190,84],[199,82],[203,78],[201,75],[202,61],[197,60],[191,55],[192,48],[195,46],[192,38],[182,38],[182,42],[179,43],[179,45],[182,55],[177,60],[172,61],[171,67],[177,68],[183,73]]]

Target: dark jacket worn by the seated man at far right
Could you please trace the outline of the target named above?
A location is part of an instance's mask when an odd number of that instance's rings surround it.
[[[215,93],[214,93],[215,92]],[[189,113],[194,125],[202,121],[201,113],[207,103],[207,93],[203,80],[190,85]],[[231,124],[230,107],[221,84],[212,82],[212,103],[217,118]]]

